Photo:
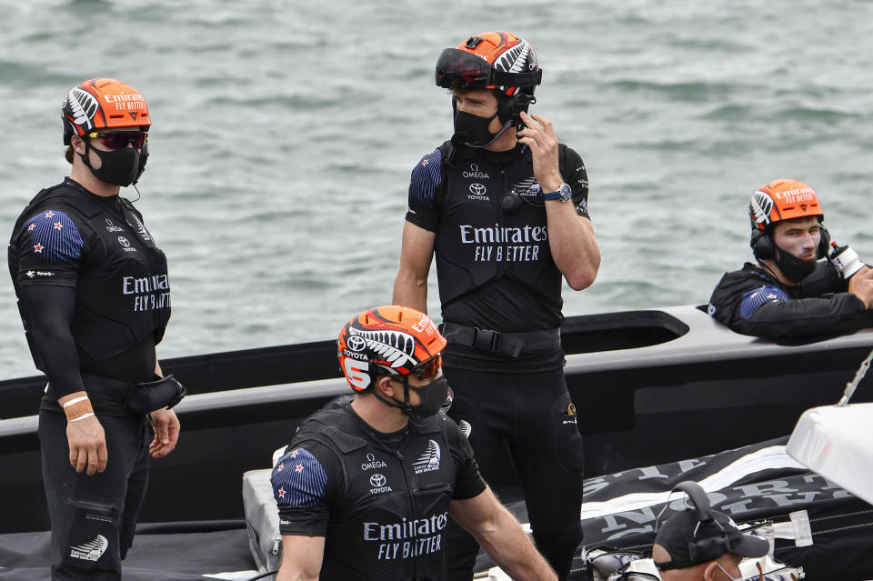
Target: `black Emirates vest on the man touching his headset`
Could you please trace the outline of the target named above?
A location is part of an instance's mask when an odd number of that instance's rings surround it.
[[[559,145],[559,159],[564,158]],[[435,254],[443,308],[459,296],[508,276],[530,288],[538,302],[562,306],[561,272],[548,245],[546,207],[534,176],[530,150],[506,168],[490,163],[479,150],[455,149],[447,141],[443,155],[443,198],[439,202]],[[454,151],[453,151],[454,150]],[[564,168],[561,167],[563,175]],[[501,205],[517,196],[517,208]]]

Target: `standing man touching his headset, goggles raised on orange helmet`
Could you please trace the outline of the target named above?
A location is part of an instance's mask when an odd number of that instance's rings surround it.
[[[487,480],[505,470],[508,446],[537,547],[564,577],[582,537],[583,449],[564,379],[561,278],[591,285],[600,250],[582,159],[527,114],[541,78],[533,47],[507,32],[439,56],[455,135],[412,172],[394,303],[426,310],[436,255],[449,415]],[[469,579],[476,544],[449,540],[448,578]]]

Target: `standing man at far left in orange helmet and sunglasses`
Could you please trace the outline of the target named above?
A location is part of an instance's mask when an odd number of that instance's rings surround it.
[[[61,108],[69,177],[18,217],[9,269],[48,385],[39,412],[53,579],[120,579],[146,494],[148,456],[176,446],[155,346],[170,316],[166,257],[118,195],[146,165],[146,100],[121,81],[74,86]],[[149,424],[154,436],[149,433]]]

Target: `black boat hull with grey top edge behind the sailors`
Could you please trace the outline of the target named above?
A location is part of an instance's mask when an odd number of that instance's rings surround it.
[[[717,326],[694,306],[567,318],[567,385],[586,476],[786,436],[833,404],[873,348],[859,332],[776,346]],[[347,393],[331,341],[166,359],[188,388],[176,451],[153,461],[143,522],[241,518],[242,474],[269,466],[297,424]],[[853,401],[871,401],[865,380]],[[35,413],[45,380],[0,383],[0,533],[45,530]],[[110,443],[111,446],[111,443]],[[497,482],[517,498],[508,467]]]

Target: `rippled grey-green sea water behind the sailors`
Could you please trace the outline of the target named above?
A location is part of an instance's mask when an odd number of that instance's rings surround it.
[[[580,315],[707,301],[745,208],[812,185],[873,260],[873,2],[0,0],[0,233],[59,182],[58,108],[113,76],[153,117],[136,203],[166,250],[163,358],[333,338],[390,301],[409,171],[451,134],[439,52],[506,29],[586,160],[603,265]],[[128,188],[123,195],[135,198]],[[432,275],[431,282],[435,276]],[[438,317],[435,285],[429,309]],[[0,276],[0,378],[35,373]]]

